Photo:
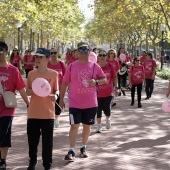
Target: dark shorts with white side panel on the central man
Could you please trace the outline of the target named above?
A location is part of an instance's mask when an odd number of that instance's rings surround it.
[[[70,125],[79,123],[93,125],[95,123],[96,113],[97,107],[87,109],[69,108]]]

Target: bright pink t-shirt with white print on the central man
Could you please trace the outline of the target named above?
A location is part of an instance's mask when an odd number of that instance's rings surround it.
[[[105,78],[106,75],[97,63],[88,61],[80,63],[75,61],[66,68],[63,82],[70,83],[69,107],[70,108],[92,108],[97,107],[96,86],[89,86],[88,80]]]

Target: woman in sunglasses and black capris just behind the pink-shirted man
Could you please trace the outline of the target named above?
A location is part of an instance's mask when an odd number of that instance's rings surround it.
[[[115,67],[107,63],[107,55],[104,50],[101,50],[98,55],[98,64],[102,68],[103,72],[107,76],[107,82],[102,85],[98,85],[98,94],[97,94],[97,101],[98,101],[98,110],[97,110],[97,133],[101,133],[102,125],[101,125],[101,117],[102,111],[106,115],[106,129],[110,129],[111,122],[110,122],[110,115],[111,115],[111,102],[113,98],[113,83],[117,84],[117,73]]]

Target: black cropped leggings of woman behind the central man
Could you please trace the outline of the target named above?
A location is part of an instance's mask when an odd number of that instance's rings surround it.
[[[111,101],[113,96],[97,98],[98,109],[97,109],[97,118],[102,117],[102,111],[106,116],[111,115]]]

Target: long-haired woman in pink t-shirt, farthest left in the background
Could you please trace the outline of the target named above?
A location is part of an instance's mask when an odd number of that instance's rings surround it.
[[[18,49],[14,48],[10,56],[10,63],[21,70],[21,57],[19,55]]]

